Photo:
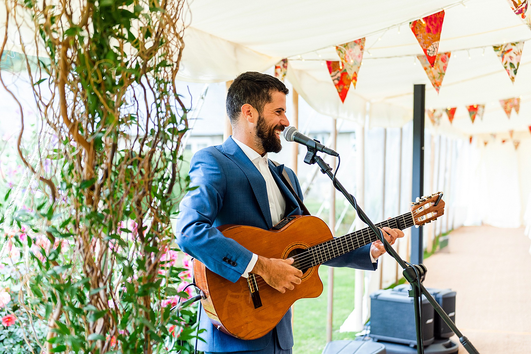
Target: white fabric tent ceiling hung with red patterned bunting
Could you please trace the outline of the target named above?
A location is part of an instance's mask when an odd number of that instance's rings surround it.
[[[243,71],[264,71],[288,57],[288,80],[322,114],[360,120],[371,102],[372,124],[399,126],[411,119],[413,85],[425,83],[427,108],[458,107],[452,126],[443,117],[441,131],[468,135],[528,130],[531,48],[524,47],[514,84],[492,49],[531,39],[531,30],[506,0],[375,4],[196,0],[190,5],[180,78],[226,81]],[[415,59],[423,52],[408,23],[442,9],[446,14],[439,52],[451,51],[452,56],[438,95]],[[366,50],[357,86],[351,86],[342,104],[324,60],[339,60],[334,45],[362,37]],[[499,100],[519,96],[520,114],[509,120]],[[486,104],[483,121],[470,122],[465,105],[471,104]]]

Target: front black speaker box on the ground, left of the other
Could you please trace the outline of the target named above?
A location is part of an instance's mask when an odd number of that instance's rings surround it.
[[[374,340],[417,344],[413,298],[407,291],[378,290],[371,294],[371,333]],[[422,296],[422,334],[424,345],[434,338],[433,307]]]

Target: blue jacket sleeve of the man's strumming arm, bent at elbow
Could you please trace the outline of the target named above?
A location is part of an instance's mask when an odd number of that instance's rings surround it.
[[[198,151],[190,163],[190,191],[181,201],[176,223],[177,244],[208,269],[236,282],[249,264],[252,252],[212,226],[227,181],[222,166],[208,150]]]

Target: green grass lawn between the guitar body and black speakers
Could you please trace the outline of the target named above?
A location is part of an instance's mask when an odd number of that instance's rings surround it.
[[[339,327],[354,309],[354,275],[351,268],[334,268],[332,340],[354,339],[354,332],[339,333]],[[295,302],[294,354],[320,354],[326,345],[328,267],[319,267],[321,296]]]

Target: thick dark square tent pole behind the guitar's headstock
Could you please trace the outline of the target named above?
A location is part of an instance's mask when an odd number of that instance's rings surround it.
[[[424,192],[424,99],[425,85],[414,85],[413,89],[413,182],[412,200],[422,197]],[[422,226],[411,229],[411,262],[423,262]]]

